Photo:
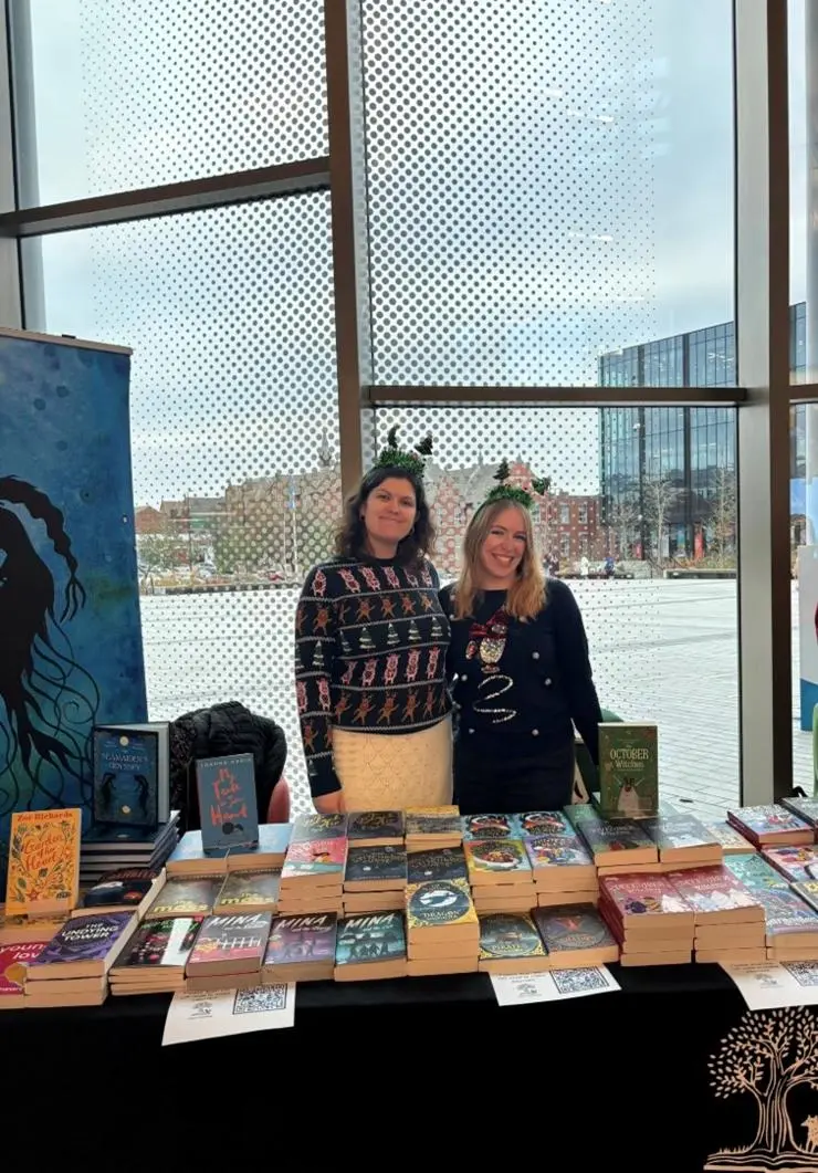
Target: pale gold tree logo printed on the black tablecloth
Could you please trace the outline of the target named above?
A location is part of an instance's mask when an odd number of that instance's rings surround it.
[[[818,1019],[806,1006],[748,1011],[710,1056],[716,1099],[755,1105],[755,1137],[711,1153],[705,1169],[818,1171]]]

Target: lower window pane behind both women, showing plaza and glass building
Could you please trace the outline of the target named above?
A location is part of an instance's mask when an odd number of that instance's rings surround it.
[[[378,449],[393,425],[404,447],[432,433],[425,484],[438,531],[434,562],[444,582],[457,577],[468,517],[495,484],[501,460],[508,461],[518,484],[550,477],[547,497],[536,501],[532,514],[538,554],[569,583],[580,605],[602,707],[626,720],[658,721],[665,796],[694,794],[704,811],[712,802],[723,812],[739,793],[736,579],[676,582],[664,576],[665,568],[695,568],[694,533],[708,527],[709,504],[685,490],[674,490],[672,501],[667,497],[661,522],[665,556],[658,558],[650,477],[642,479],[640,507],[638,469],[626,468],[613,450],[601,461],[603,438],[611,447],[630,428],[630,412],[396,405],[367,408],[364,422]],[[735,409],[714,408],[708,415],[735,438]],[[710,466],[715,481],[732,475],[729,446],[702,447],[699,459],[721,462]],[[627,473],[629,495],[614,483],[614,466]],[[681,549],[669,556],[669,540],[674,545],[682,541],[675,510],[682,516],[684,509],[692,518],[684,538],[688,557]],[[714,513],[710,526],[717,520]],[[717,552],[718,535],[711,536]],[[608,554],[620,575],[633,577],[604,578]],[[716,773],[714,760],[719,762]]]

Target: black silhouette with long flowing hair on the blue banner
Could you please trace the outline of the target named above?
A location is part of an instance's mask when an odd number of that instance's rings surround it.
[[[29,536],[38,522],[68,575],[62,588]],[[77,571],[60,509],[0,477],[0,818],[90,799],[100,693],[66,632],[86,603]]]

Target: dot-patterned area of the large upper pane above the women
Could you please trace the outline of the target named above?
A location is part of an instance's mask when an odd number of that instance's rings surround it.
[[[374,381],[593,385],[655,337],[644,0],[364,0]]]

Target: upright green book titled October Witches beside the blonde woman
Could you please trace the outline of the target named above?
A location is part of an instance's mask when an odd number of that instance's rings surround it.
[[[600,811],[604,819],[650,819],[658,814],[655,725],[600,725]]]

